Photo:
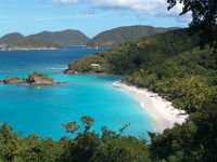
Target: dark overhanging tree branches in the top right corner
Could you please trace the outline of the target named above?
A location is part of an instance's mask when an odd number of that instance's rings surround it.
[[[209,44],[217,50],[217,1],[216,0],[167,0],[168,10],[182,3],[180,15],[192,13],[190,33],[199,33],[201,48]]]

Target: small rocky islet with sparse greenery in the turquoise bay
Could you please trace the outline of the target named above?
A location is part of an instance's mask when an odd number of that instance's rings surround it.
[[[27,78],[20,77],[7,77],[3,80],[0,80],[0,83],[4,84],[28,84],[28,85],[50,85],[56,83],[66,83],[66,82],[56,82],[53,78],[49,78],[47,75],[34,72],[28,75]]]

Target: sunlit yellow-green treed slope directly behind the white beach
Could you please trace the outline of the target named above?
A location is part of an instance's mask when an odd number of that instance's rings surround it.
[[[193,112],[205,104],[213,103],[217,94],[217,59],[204,57],[213,57],[210,49],[194,49],[146,67],[145,70],[140,69],[123,81],[156,92],[169,99],[175,107]]]

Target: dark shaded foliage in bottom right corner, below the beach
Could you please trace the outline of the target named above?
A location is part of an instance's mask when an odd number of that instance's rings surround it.
[[[215,133],[217,131],[217,113],[216,108],[205,109],[203,114],[194,113],[183,125],[165,130],[163,134],[151,134],[153,157],[165,159],[168,162],[215,162],[217,160],[217,135]],[[208,114],[207,111],[209,111]],[[202,118],[204,114],[205,118]]]

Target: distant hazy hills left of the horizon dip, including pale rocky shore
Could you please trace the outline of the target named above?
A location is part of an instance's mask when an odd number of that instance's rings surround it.
[[[43,31],[27,37],[13,32],[0,38],[0,50],[60,50],[66,45],[86,45],[88,40],[89,38],[78,30]]]

